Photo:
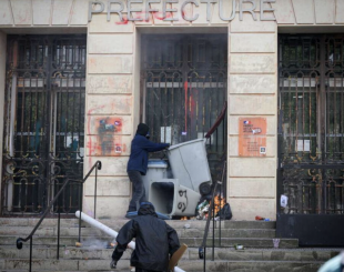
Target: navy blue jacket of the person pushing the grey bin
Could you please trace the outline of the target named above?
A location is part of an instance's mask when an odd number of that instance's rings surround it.
[[[140,171],[145,175],[148,168],[148,152],[155,152],[168,148],[169,143],[154,143],[144,135],[135,134],[131,141],[131,153],[127,171]]]

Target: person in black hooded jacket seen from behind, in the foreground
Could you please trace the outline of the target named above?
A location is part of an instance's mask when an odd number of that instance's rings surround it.
[[[169,259],[180,248],[178,234],[173,228],[159,219],[150,202],[142,202],[139,216],[125,223],[117,236],[117,246],[112,253],[111,269],[135,238],[135,250],[131,254],[130,264],[135,272],[165,272]]]

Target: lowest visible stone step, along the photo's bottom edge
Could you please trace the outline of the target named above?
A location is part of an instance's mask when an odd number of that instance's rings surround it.
[[[227,272],[227,271],[260,271],[260,272],[316,272],[323,262],[289,262],[289,261],[208,261],[205,271]],[[128,260],[118,263],[117,271],[130,271]],[[2,271],[28,271],[27,260],[0,260]],[[179,268],[186,272],[203,271],[203,261],[181,261]],[[111,271],[109,261],[104,260],[33,260],[33,271]]]

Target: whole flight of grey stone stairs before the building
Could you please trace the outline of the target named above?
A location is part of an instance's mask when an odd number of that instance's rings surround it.
[[[119,230],[128,220],[100,220],[105,225]],[[29,242],[17,250],[16,240],[24,238],[38,219],[0,219],[0,270],[22,272],[29,269]],[[33,238],[32,271],[110,271],[113,249],[109,249],[113,238],[82,223],[82,246],[78,241],[78,219],[61,219],[60,260],[57,260],[57,219],[45,219]],[[204,221],[168,221],[182,243],[189,245],[179,266],[186,272],[203,271],[203,260],[199,260]],[[219,222],[216,222],[219,224]],[[212,224],[211,224],[212,226]],[[297,240],[281,239],[274,249],[275,222],[225,221],[222,222],[221,248],[206,249],[206,271],[272,271],[272,272],[315,272],[341,249],[300,249]],[[215,244],[219,230],[214,231]],[[208,245],[212,245],[213,230],[209,232]],[[244,250],[235,250],[234,244],[243,244]],[[117,271],[130,271],[128,250],[119,262]]]

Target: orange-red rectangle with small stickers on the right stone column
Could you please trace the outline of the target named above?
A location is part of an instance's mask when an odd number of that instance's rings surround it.
[[[266,118],[239,119],[239,157],[266,155]]]

